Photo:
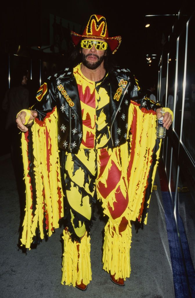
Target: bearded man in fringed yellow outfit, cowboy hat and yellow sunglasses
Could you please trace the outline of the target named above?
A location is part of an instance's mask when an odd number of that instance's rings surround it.
[[[146,218],[157,165],[160,141],[156,142],[155,127],[161,106],[139,99],[139,87],[128,69],[109,70],[109,52],[116,52],[121,37],[108,37],[103,16],[92,15],[82,35],[71,35],[81,64],[49,77],[37,93],[33,110],[21,111],[16,120],[18,128],[27,132],[35,119],[33,144],[29,131],[22,145],[29,156],[29,161],[25,160],[26,185],[33,186],[30,190],[27,187],[21,241],[29,247],[37,235],[37,225],[41,238],[44,225],[51,235],[59,218],[65,216],[62,284],[86,290],[91,280],[92,205],[98,198],[109,218],[103,269],[114,283],[124,285],[130,276],[130,221]],[[164,126],[168,129],[171,122],[167,112]]]

